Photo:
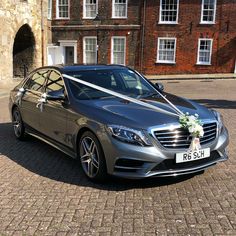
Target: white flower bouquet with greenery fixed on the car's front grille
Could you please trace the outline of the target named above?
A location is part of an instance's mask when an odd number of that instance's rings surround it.
[[[189,115],[189,113],[182,114],[179,117],[179,123],[181,127],[187,129],[190,133],[190,136],[192,136],[190,150],[199,150],[201,148],[199,138],[203,137],[204,130],[198,114],[195,115]]]

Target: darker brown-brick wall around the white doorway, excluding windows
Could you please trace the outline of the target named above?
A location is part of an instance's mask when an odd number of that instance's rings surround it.
[[[70,19],[56,19],[56,0],[53,1],[52,26],[85,26],[84,29],[73,28],[54,28],[52,27],[52,43],[58,40],[77,40],[78,63],[83,63],[83,37],[97,36],[98,34],[98,60],[101,64],[111,63],[111,38],[112,36],[126,36],[126,65],[136,67],[139,61],[139,37],[140,27],[127,27],[118,29],[119,25],[140,25],[141,1],[129,0],[127,19],[112,19],[112,0],[99,0],[98,12],[101,20],[98,29],[96,22],[91,19],[83,19],[83,0],[71,0]],[[91,29],[89,26],[93,25]],[[113,25],[114,28],[108,29],[105,25]],[[86,28],[87,26],[87,28]],[[107,28],[107,29],[106,29]]]

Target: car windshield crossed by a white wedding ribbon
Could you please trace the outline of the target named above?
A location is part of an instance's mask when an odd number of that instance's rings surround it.
[[[141,76],[129,69],[71,71],[68,75],[134,98],[153,95],[157,91]],[[107,93],[69,80],[73,95],[80,100],[109,97]]]

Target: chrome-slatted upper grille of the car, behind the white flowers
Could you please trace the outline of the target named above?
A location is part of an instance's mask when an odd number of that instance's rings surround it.
[[[216,138],[216,122],[204,124],[203,130],[204,136],[200,138],[201,145],[210,143]],[[163,147],[169,149],[189,148],[192,141],[190,133],[183,128],[156,130],[154,135]]]

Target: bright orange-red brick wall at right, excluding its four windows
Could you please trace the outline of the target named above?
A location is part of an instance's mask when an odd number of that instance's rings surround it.
[[[201,0],[179,0],[177,25],[158,24],[160,1],[147,1],[146,74],[232,73],[236,56],[236,1],[218,0],[216,24],[202,25]],[[229,22],[228,22],[229,21]],[[156,63],[158,37],[176,37],[176,64]],[[211,65],[196,65],[199,38],[213,38]]]

